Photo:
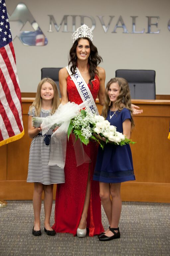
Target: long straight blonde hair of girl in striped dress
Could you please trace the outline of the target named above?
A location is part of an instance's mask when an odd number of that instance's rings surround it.
[[[40,112],[42,108],[41,89],[42,89],[42,85],[46,82],[52,85],[52,88],[54,91],[54,97],[52,99],[51,114],[54,114],[55,110],[58,108],[60,104],[60,98],[59,98],[59,93],[58,93],[58,88],[56,83],[51,78],[43,78],[38,84],[36,98],[30,108],[30,110],[32,110],[32,108],[35,107],[36,116],[40,116]]]

